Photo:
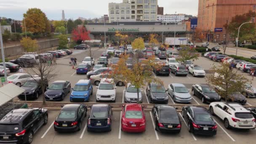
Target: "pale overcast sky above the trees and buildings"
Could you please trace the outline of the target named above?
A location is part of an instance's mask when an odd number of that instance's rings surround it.
[[[0,0],[0,17],[22,19],[28,8],[40,8],[50,20],[61,20],[61,10],[66,19],[95,18],[108,14],[108,3],[123,0]],[[186,13],[197,16],[198,0],[158,0],[164,14]]]

